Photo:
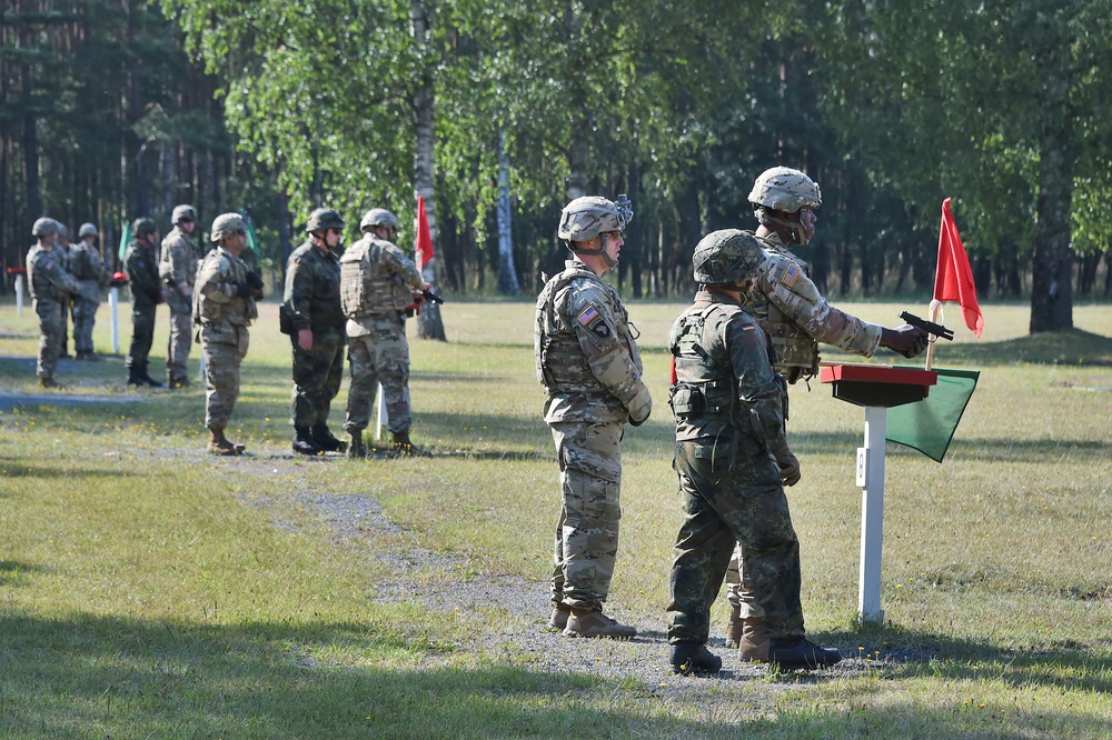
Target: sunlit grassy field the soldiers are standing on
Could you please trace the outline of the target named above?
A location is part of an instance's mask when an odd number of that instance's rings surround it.
[[[631,307],[657,406],[626,433],[610,594],[658,638],[681,308]],[[906,307],[845,308],[892,324]],[[536,631],[546,613],[425,606],[495,574],[544,591],[557,508],[532,304],[443,313],[448,343],[413,342],[414,438],[438,457],[348,463],[289,452],[274,304],[229,430],[242,459],[203,452],[201,389],[128,389],[119,357],[66,362],[68,391],[17,403],[38,392],[33,313],[0,307],[0,737],[1112,737],[1112,308],[1029,337],[1029,308],[989,306],[980,340],[951,311],[957,340],[936,364],[981,382],[943,464],[888,446],[883,627],[854,616],[864,413],[793,387],[807,626],[857,668],[697,682],[665,671],[663,643],[652,680],[539,670],[475,636]],[[166,341],[160,309],[156,377]],[[97,344],[109,351],[107,304]],[[357,499],[391,526],[319,514]],[[398,596],[388,556],[414,548],[433,557]]]

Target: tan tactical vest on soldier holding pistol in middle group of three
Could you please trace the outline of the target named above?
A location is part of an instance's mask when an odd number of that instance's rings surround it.
[[[397,313],[414,302],[401,276],[383,270],[381,253],[389,246],[388,241],[364,237],[340,258],[340,303],[347,318]]]

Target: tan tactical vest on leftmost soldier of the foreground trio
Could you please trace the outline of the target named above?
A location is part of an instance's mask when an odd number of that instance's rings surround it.
[[[641,352],[629,336],[629,314],[610,288],[594,271],[582,264],[565,269],[548,281],[537,297],[537,317],[535,326],[536,342],[534,359],[537,366],[537,380],[549,396],[566,393],[609,393],[587,364],[587,358],[579,348],[579,340],[572,328],[572,320],[564,317],[560,321],[556,310],[556,296],[573,280],[588,280],[602,287],[609,298],[610,309],[617,322],[615,331],[617,341],[622,342],[634,364],[638,368]]]

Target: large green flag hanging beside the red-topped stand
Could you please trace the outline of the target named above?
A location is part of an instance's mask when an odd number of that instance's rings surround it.
[[[888,409],[886,439],[942,462],[981,372],[932,369],[939,373],[939,383],[931,388],[930,396]]]

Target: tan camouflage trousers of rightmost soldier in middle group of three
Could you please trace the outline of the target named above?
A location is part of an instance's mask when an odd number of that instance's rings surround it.
[[[384,327],[361,337],[348,337],[348,359],[351,361],[351,388],[348,390],[347,420],[349,432],[363,431],[370,423],[378,383],[389,416],[391,432],[407,432],[413,426],[409,408],[409,342],[405,323]]]

